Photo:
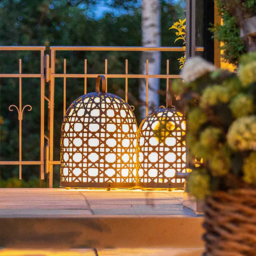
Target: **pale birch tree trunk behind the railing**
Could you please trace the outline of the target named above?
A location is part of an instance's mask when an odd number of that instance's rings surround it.
[[[158,47],[161,45],[161,6],[160,0],[142,0],[142,46]],[[146,74],[146,59],[148,59],[148,74],[160,74],[161,53],[142,52],[141,72]],[[159,106],[159,79],[148,80],[148,114]],[[146,79],[140,80],[139,99],[140,117],[146,116]]]

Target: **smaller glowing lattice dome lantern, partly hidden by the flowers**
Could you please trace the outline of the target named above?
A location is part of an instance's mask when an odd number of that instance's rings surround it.
[[[138,185],[152,188],[182,188],[186,172],[186,122],[184,115],[161,107],[141,123],[137,135]]]

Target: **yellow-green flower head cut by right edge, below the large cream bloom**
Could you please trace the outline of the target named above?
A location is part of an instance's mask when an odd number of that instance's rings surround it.
[[[243,164],[244,181],[256,185],[256,152],[252,152]]]

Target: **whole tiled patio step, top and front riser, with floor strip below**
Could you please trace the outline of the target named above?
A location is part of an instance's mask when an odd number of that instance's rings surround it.
[[[11,255],[8,248],[197,256],[203,247],[202,217],[183,208],[183,191],[0,188],[0,195],[0,256]]]

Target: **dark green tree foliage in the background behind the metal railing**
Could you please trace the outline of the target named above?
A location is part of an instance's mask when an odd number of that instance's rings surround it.
[[[95,45],[95,46],[140,46],[141,12],[137,1],[108,1],[109,6],[121,8],[123,15],[106,14],[95,19],[98,1],[87,0],[1,0],[0,1],[0,45]],[[177,15],[182,13],[178,6]],[[175,34],[168,31],[173,23],[169,5],[162,3],[162,45],[170,46]],[[179,53],[162,54],[162,73],[166,73],[166,59],[170,59],[170,73],[178,74],[176,58]],[[0,52],[1,73],[18,73],[18,59],[22,59],[22,73],[40,73],[39,52]],[[88,73],[104,73],[104,59],[108,59],[109,73],[124,73],[125,59],[128,72],[139,73],[139,52],[58,52],[56,72],[63,73],[63,58],[67,59],[67,73],[83,73],[84,59],[87,58]],[[67,106],[83,94],[83,79],[67,79]],[[137,107],[138,79],[128,81],[128,101]],[[161,81],[165,89],[166,81]],[[18,105],[18,79],[1,79],[1,160],[18,159],[18,118],[17,113],[8,110],[9,105]],[[108,90],[124,98],[124,80],[109,79]],[[46,83],[46,96],[48,84]],[[95,90],[95,80],[87,79],[87,91]],[[161,104],[165,95],[161,96]],[[40,80],[22,80],[22,103],[31,104],[32,111],[24,111],[22,121],[22,159],[38,160],[40,154]],[[55,79],[54,108],[54,160],[60,157],[60,127],[63,116],[63,79]],[[135,114],[137,115],[137,109]],[[45,101],[45,113],[47,113]],[[47,124],[47,114],[45,116]],[[45,133],[47,127],[45,126]],[[1,166],[1,178],[17,177],[17,166]],[[39,177],[38,166],[23,166],[23,178]],[[59,166],[55,166],[54,181],[58,186]]]

